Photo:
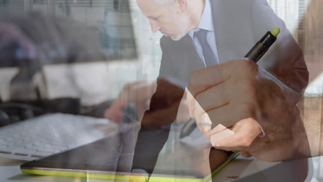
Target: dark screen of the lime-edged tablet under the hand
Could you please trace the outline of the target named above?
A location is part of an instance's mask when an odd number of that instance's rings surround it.
[[[146,132],[146,157],[157,157],[152,176],[195,176],[204,178],[224,163],[231,153],[211,149],[201,141],[187,143],[176,141],[168,148],[155,154],[153,136],[168,134],[167,130]],[[151,137],[149,137],[151,136]],[[92,171],[95,173],[129,173],[134,169],[147,169],[144,162],[133,163],[135,148],[135,131],[128,128],[113,136],[83,145],[79,148],[54,154],[21,165],[21,169],[59,170],[59,171]],[[167,145],[167,143],[166,143]],[[136,156],[135,156],[136,157]]]

